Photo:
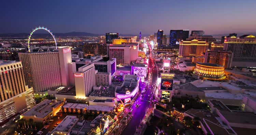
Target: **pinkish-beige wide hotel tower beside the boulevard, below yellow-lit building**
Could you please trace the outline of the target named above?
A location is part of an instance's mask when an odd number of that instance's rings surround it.
[[[130,64],[138,58],[139,44],[124,43],[122,45],[107,44],[110,59],[116,58],[116,64]]]

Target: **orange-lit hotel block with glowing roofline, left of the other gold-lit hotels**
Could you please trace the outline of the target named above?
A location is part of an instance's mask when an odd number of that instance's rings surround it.
[[[201,56],[208,48],[208,42],[198,41],[181,41],[179,46],[179,57]]]

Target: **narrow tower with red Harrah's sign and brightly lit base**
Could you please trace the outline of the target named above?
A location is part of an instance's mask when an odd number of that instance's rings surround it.
[[[93,87],[96,85],[94,63],[86,64],[78,69],[74,73],[75,77],[75,93],[78,98],[85,98],[93,90]]]

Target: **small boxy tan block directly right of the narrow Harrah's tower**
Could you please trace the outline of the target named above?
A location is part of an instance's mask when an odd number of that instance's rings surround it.
[[[111,73],[98,72],[95,74],[96,85],[109,86],[111,85]]]

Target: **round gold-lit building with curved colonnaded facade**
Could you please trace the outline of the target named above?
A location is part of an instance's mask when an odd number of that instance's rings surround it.
[[[195,75],[214,80],[224,79],[224,66],[214,63],[197,62]]]

